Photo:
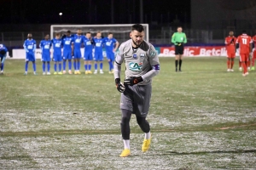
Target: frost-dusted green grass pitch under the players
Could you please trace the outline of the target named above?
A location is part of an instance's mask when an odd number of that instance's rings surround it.
[[[176,73],[173,58],[160,58],[148,114],[151,148],[141,153],[143,133],[132,116],[131,156],[119,158],[120,94],[107,62],[104,75],[43,76],[38,60],[38,76],[31,64],[23,76],[23,60],[6,60],[0,169],[254,168],[256,71],[242,77],[237,61],[227,72],[225,58],[186,58]]]

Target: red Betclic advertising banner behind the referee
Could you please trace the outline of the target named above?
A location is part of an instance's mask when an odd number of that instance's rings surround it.
[[[184,56],[227,56],[225,46],[208,46],[208,47],[184,47]],[[238,54],[237,54],[238,55]],[[174,47],[161,47],[160,57],[173,57],[175,56]]]

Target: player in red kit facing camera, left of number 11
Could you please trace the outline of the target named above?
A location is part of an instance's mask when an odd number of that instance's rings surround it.
[[[234,59],[236,58],[236,37],[234,37],[234,31],[230,31],[230,36],[225,38],[225,44],[227,49],[227,66],[228,71],[234,71]]]

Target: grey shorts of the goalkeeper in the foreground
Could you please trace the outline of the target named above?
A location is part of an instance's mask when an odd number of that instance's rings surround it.
[[[121,94],[120,109],[131,111],[136,116],[146,117],[151,98],[151,84],[125,86],[125,92]]]

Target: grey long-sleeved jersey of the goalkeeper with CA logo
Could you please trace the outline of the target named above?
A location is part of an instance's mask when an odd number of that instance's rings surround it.
[[[139,48],[132,48],[132,40],[123,42],[115,59],[114,78],[120,78],[121,64],[125,60],[125,77],[143,77],[139,85],[151,83],[160,71],[160,62],[154,46],[143,41]]]

